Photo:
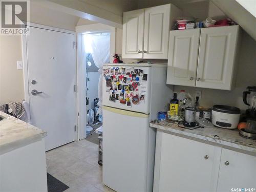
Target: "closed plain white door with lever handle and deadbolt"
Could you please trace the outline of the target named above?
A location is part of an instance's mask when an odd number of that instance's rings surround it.
[[[75,35],[31,27],[26,40],[31,123],[47,131],[48,151],[76,139]]]

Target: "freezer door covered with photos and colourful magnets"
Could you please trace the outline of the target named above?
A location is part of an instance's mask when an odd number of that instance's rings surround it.
[[[103,105],[149,114],[151,68],[104,65],[102,73]]]

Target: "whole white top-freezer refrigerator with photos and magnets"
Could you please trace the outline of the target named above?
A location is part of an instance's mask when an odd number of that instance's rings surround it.
[[[156,130],[149,123],[173,96],[166,73],[163,64],[103,66],[103,183],[115,191],[153,191]]]

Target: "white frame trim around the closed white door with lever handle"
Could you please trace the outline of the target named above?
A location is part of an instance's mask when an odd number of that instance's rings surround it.
[[[74,31],[70,31],[70,30],[66,30],[66,29],[60,29],[60,28],[55,28],[55,27],[51,27],[51,26],[45,26],[45,25],[40,25],[40,24],[35,24],[35,23],[30,23],[27,22],[27,26],[29,27],[34,27],[34,28],[39,28],[39,29],[45,29],[45,30],[50,30],[50,31],[57,31],[57,32],[61,32],[61,33],[68,33],[68,34],[72,34],[75,36],[75,41],[77,41],[76,39],[76,33]],[[25,93],[25,101],[29,103],[30,106],[30,99],[29,99],[29,78],[28,78],[28,52],[27,52],[27,36],[26,35],[22,35],[22,58],[23,58],[23,77],[24,77],[24,93]],[[77,59],[77,57],[75,57],[75,59]],[[75,79],[77,79],[77,60],[75,60],[76,62],[76,73],[75,73]],[[75,81],[76,87],[77,87],[77,81]],[[75,101],[75,105],[76,105],[76,111],[77,111],[77,91],[76,91],[76,101]],[[30,108],[29,108],[30,110]],[[77,114],[76,114],[76,140],[78,140],[78,126],[77,126]]]

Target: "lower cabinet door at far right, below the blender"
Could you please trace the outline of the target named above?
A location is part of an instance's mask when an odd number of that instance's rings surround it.
[[[217,191],[232,188],[256,188],[256,157],[222,148]]]

